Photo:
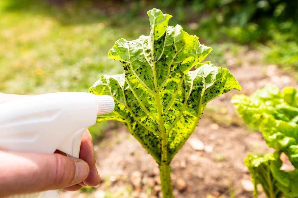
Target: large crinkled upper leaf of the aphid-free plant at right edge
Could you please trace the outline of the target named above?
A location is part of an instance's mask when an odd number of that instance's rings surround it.
[[[260,127],[269,147],[283,151],[298,168],[297,91],[267,85],[250,97],[235,95],[232,98],[243,120],[252,127]]]

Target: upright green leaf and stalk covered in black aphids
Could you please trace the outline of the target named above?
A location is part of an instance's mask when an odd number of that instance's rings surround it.
[[[173,198],[171,160],[194,132],[207,102],[241,87],[228,69],[200,63],[212,49],[180,25],[168,26],[171,15],[159,9],[147,14],[150,35],[119,39],[108,53],[124,73],[102,75],[89,92],[114,98],[114,112],[97,121],[125,125],[159,164],[163,196]]]

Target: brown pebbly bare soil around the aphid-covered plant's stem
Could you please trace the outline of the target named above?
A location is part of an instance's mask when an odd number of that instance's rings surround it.
[[[251,176],[243,159],[248,153],[264,154],[273,150],[267,147],[261,133],[243,123],[230,99],[234,94],[249,95],[268,83],[280,88],[297,87],[291,74],[275,65],[262,65],[260,52],[227,56],[230,56],[227,59],[229,70],[243,90],[232,90],[208,104],[190,137],[204,143],[203,151],[194,150],[188,140],[174,157],[171,178],[176,198],[252,198]],[[84,193],[60,191],[61,198],[162,197],[158,164],[124,126],[116,133],[107,131],[94,148],[102,178],[100,185]],[[258,197],[265,195],[261,191]]]

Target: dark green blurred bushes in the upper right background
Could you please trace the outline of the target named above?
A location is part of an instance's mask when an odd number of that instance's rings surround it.
[[[261,47],[266,61],[298,69],[296,0],[158,0],[207,42],[230,40]]]

